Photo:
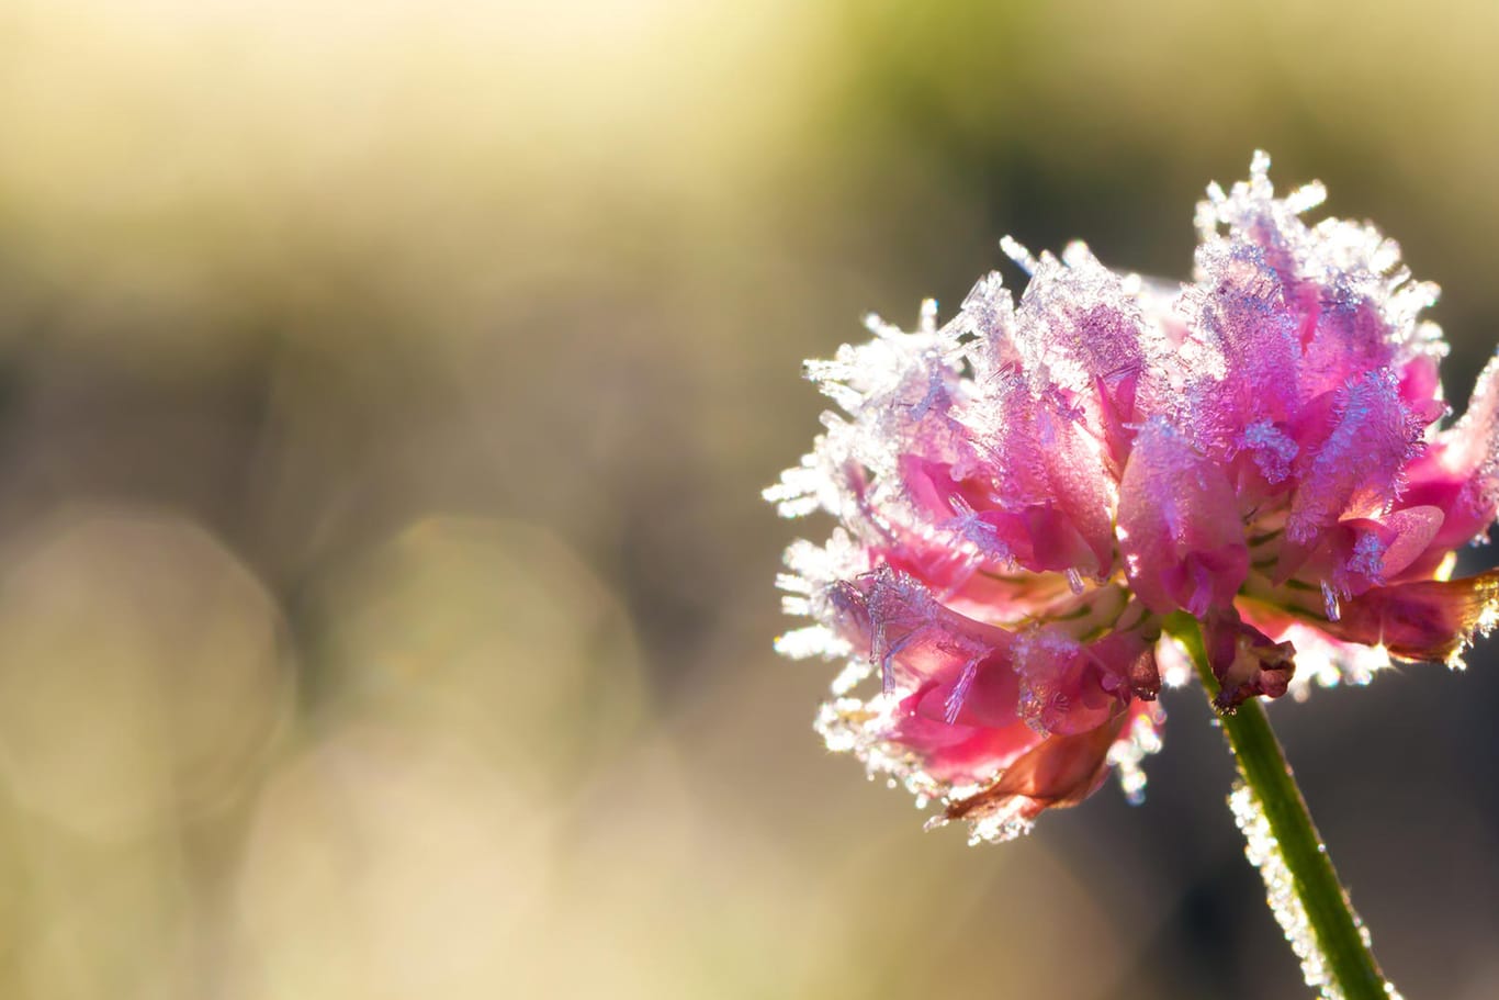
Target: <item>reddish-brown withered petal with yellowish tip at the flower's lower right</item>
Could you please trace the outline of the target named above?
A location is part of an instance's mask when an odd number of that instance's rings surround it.
[[[1499,618],[1499,570],[1463,580],[1421,580],[1378,586],[1346,601],[1324,625],[1345,642],[1384,646],[1403,660],[1462,666],[1474,634],[1489,634]]]

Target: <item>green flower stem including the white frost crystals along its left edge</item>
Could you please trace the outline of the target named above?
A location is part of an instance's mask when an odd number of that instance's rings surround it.
[[[1186,646],[1211,702],[1219,682],[1202,633],[1190,619],[1177,625],[1172,622],[1171,633]],[[1270,907],[1301,958],[1307,985],[1328,1000],[1399,997],[1379,972],[1369,933],[1337,879],[1265,709],[1249,699],[1235,714],[1219,718],[1243,781],[1229,805],[1247,840],[1246,853],[1265,879]]]

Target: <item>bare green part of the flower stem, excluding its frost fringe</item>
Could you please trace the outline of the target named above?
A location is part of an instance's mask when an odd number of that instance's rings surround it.
[[[1219,693],[1219,682],[1208,666],[1198,622],[1172,621],[1169,631],[1186,646],[1211,702]],[[1375,961],[1367,936],[1337,879],[1322,837],[1312,823],[1306,799],[1301,798],[1301,789],[1297,787],[1291,765],[1286,763],[1280,741],[1270,729],[1270,720],[1265,718],[1259,699],[1249,699],[1232,715],[1220,715],[1219,721],[1234,751],[1240,777],[1270,823],[1270,832],[1285,861],[1294,892],[1316,937],[1325,963],[1325,985],[1330,987],[1324,988],[1324,996],[1340,996],[1345,1000],[1390,1000],[1396,994],[1379,972],[1379,963]],[[1274,894],[1274,886],[1270,889]],[[1291,937],[1289,930],[1288,937]]]

